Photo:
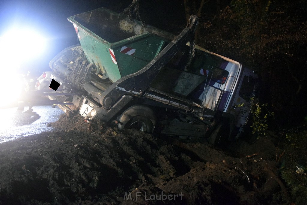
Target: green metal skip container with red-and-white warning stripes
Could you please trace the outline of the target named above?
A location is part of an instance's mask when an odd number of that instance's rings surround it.
[[[71,16],[68,21],[87,60],[111,82],[144,68],[175,37],[106,8]]]

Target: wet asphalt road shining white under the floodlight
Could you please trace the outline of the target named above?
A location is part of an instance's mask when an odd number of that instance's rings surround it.
[[[23,111],[15,108],[0,109],[0,143],[14,140],[17,137],[31,136],[53,128],[47,124],[59,119],[64,112],[60,108],[52,108],[51,105],[25,107]]]

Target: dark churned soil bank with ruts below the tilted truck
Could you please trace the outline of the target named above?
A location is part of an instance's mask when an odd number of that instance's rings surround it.
[[[0,144],[0,204],[286,203],[269,138],[228,151],[69,114]]]

